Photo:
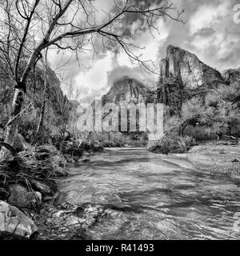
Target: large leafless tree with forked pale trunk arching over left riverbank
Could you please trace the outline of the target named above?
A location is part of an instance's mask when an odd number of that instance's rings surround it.
[[[162,1],[115,0],[113,8],[99,21],[98,9],[92,0],[6,0],[2,1],[0,50],[6,57],[8,73],[14,82],[14,99],[5,142],[14,145],[19,113],[24,102],[28,78],[46,48],[71,50],[78,54],[94,42],[94,34],[102,37],[102,46],[113,50],[117,46],[147,70],[147,62],[134,54],[134,37],[126,33],[126,17],[137,15],[149,30],[158,30],[155,21],[166,16],[180,21],[182,11]],[[174,11],[174,14],[173,14]],[[0,158],[6,152],[2,150]]]

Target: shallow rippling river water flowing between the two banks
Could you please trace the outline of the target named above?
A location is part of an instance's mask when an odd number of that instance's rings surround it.
[[[70,168],[65,200],[106,206],[91,239],[239,239],[240,187],[143,149],[105,150]]]

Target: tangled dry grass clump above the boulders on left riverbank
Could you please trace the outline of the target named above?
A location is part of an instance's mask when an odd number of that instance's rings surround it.
[[[20,184],[32,190],[31,181],[37,180],[57,190],[58,165],[50,152],[25,151],[18,156],[0,162],[0,199],[8,197],[8,186]]]

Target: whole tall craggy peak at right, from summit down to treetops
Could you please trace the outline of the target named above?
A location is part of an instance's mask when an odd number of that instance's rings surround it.
[[[201,62],[195,54],[170,45],[166,58],[160,62],[156,102],[170,106],[171,115],[180,116],[183,102],[194,96],[203,99],[221,84],[227,83],[218,70]]]

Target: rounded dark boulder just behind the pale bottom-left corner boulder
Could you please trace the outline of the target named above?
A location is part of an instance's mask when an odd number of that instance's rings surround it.
[[[42,194],[40,192],[29,192],[25,187],[14,184],[8,187],[10,197],[7,202],[20,209],[38,209],[42,204]]]

